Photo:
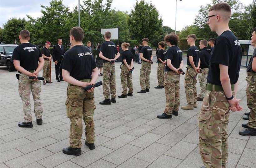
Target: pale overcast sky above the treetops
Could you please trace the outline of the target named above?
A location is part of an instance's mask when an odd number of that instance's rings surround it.
[[[82,3],[83,0],[80,0]],[[175,29],[175,0],[145,0],[152,2],[157,8],[159,15],[162,16],[163,26],[169,26]],[[240,0],[243,4],[248,5],[253,0]],[[34,18],[40,17],[40,5],[49,6],[51,0],[0,0],[0,27],[12,17],[27,18],[26,14]],[[106,2],[106,0],[104,0]],[[122,3],[121,3],[122,2]],[[133,4],[136,0],[113,0],[112,8],[120,11],[131,12]],[[200,5],[210,3],[211,0],[177,0],[177,28],[183,29],[186,25],[193,24],[195,16],[198,14]],[[72,11],[73,7],[78,4],[78,0],[63,0],[65,6],[68,6]]]

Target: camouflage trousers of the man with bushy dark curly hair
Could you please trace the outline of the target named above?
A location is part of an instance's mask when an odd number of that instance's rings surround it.
[[[165,72],[164,89],[166,96],[166,105],[164,113],[172,115],[173,111],[179,110],[180,95],[179,95],[180,74],[172,71]]]

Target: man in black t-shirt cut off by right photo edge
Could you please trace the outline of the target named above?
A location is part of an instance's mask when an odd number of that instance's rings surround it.
[[[251,43],[256,48],[256,27],[252,30]],[[250,58],[247,67],[247,106],[250,112],[243,117],[249,118],[248,124],[242,124],[242,127],[247,128],[246,130],[240,131],[239,134],[243,136],[256,135],[256,49],[253,51],[253,55]]]

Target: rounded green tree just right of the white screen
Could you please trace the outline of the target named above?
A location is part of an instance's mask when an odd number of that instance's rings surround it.
[[[144,0],[136,1],[134,10],[128,19],[128,26],[131,36],[134,40],[141,41],[147,37],[151,42],[159,41],[163,37],[163,20],[152,3],[146,3]]]

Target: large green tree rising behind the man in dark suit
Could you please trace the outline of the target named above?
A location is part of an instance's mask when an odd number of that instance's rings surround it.
[[[64,6],[62,0],[53,0],[50,6],[41,5],[42,16],[37,19],[30,19],[27,28],[31,31],[32,42],[44,44],[50,41],[57,44],[58,39],[62,39],[64,44],[69,44],[69,30],[66,22],[68,19],[68,7]]]

